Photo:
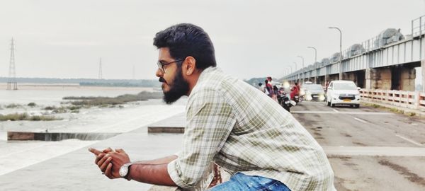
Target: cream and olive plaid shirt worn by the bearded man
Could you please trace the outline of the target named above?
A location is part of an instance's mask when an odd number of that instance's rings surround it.
[[[188,98],[183,149],[168,172],[179,187],[196,186],[210,163],[229,173],[279,180],[290,190],[335,190],[321,146],[274,100],[210,67]]]

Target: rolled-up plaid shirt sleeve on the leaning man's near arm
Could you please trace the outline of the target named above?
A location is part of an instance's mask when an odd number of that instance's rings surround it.
[[[188,100],[183,149],[168,165],[179,187],[196,186],[236,123],[232,107],[219,91],[203,90]]]

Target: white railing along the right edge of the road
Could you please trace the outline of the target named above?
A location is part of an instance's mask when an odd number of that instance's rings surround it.
[[[425,110],[425,93],[419,91],[393,91],[361,89],[362,100],[395,105],[401,108]]]

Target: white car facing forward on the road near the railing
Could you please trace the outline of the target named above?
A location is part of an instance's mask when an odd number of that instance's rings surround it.
[[[350,105],[360,107],[360,92],[353,81],[331,81],[327,87],[327,105],[332,108],[335,105]]]

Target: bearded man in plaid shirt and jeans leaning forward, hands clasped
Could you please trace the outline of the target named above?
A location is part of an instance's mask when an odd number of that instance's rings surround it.
[[[122,149],[89,149],[108,178],[190,189],[215,162],[232,177],[211,190],[334,190],[317,141],[264,93],[217,69],[202,28],[173,25],[157,33],[154,45],[165,102],[188,96],[182,150],[130,163]]]

